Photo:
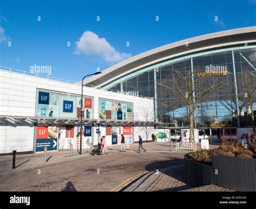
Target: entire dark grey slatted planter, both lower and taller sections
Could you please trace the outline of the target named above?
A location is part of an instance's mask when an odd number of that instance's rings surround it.
[[[256,160],[212,156],[212,166],[185,156],[185,177],[189,185],[215,184],[236,191],[256,191]]]

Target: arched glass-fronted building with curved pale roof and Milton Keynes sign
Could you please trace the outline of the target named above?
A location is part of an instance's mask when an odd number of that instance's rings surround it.
[[[189,125],[189,109],[179,91],[181,89],[184,94],[188,91],[189,85],[184,83],[190,72],[194,73],[192,99],[196,100],[200,91],[207,89],[204,84],[211,86],[217,80],[221,84],[196,104],[196,127],[252,126],[248,114],[256,106],[248,104],[243,97],[246,75],[251,75],[250,83],[255,88],[255,26],[161,46],[124,60],[85,83],[109,91],[154,98],[155,119],[169,126],[183,127]],[[256,91],[252,97],[256,97]]]

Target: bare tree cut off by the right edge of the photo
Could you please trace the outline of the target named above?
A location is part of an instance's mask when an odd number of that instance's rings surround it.
[[[256,104],[256,74],[249,70],[243,70],[242,85],[238,86],[239,100],[242,102],[242,106],[247,107],[247,114],[252,117],[253,133],[255,134],[255,122],[253,105]],[[251,113],[248,113],[250,110]]]

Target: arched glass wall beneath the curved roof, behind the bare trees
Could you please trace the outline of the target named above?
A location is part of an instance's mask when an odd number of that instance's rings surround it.
[[[136,92],[140,96],[154,97],[157,103],[157,118],[159,121],[173,123],[177,126],[187,126],[188,106],[181,101],[177,102],[179,96],[175,91],[176,86],[173,84],[173,70],[183,73],[183,71],[191,70],[192,67],[197,69],[198,72],[206,72],[206,69],[218,69],[219,67],[228,71],[224,75],[219,75],[219,82],[223,82],[223,85],[208,93],[197,105],[196,125],[209,126],[210,124],[221,123],[237,126],[237,119],[235,119],[237,117],[236,98],[239,100],[242,94],[241,86],[245,82],[243,72],[250,71],[256,75],[255,45],[223,48],[168,60],[119,78],[107,84],[105,88],[114,91]],[[199,75],[195,75],[194,79],[197,79],[197,77]],[[177,78],[177,81],[183,82],[180,78]],[[213,85],[210,79],[205,78],[205,82],[208,82],[207,85],[209,86]],[[256,80],[251,82],[255,85]],[[235,86],[237,86],[238,93],[235,91]],[[254,94],[256,97],[256,91]],[[239,100],[238,105],[240,103]],[[254,104],[254,110],[255,107]],[[241,106],[241,109],[246,111],[246,106]],[[247,122],[248,119],[246,121],[241,119],[240,125],[246,126]]]

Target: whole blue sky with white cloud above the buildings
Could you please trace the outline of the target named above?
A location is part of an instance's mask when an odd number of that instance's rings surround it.
[[[78,81],[161,45],[255,26],[256,0],[0,0],[0,19],[1,66],[46,65],[52,77]]]

